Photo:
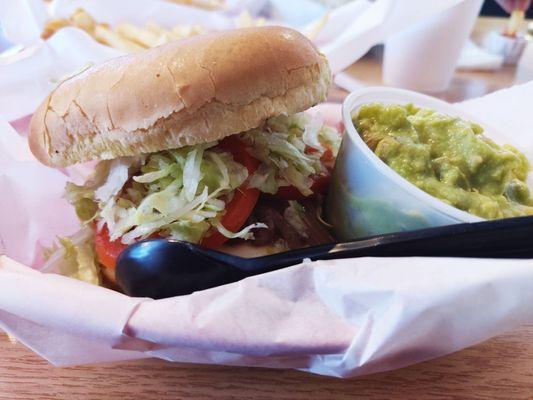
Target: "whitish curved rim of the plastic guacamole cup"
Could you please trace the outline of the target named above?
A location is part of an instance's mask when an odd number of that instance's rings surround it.
[[[364,100],[365,97],[375,97],[373,99]],[[418,201],[426,204],[435,212],[446,215],[449,218],[455,219],[459,222],[479,222],[485,221],[484,218],[477,215],[462,211],[454,206],[451,206],[444,201],[424,192],[422,189],[409,182],[387,164],[382,161],[376,154],[366,145],[364,140],[357,132],[351,118],[353,110],[357,109],[363,104],[372,102],[384,102],[390,104],[407,104],[413,103],[419,107],[427,107],[433,110],[445,112],[458,116],[470,121],[479,121],[478,118],[471,117],[468,113],[453,107],[450,103],[439,100],[435,97],[427,96],[421,93],[410,90],[389,88],[382,86],[366,87],[353,91],[350,93],[342,104],[342,119],[345,126],[345,132],[352,143],[360,151],[367,161],[376,169],[376,171],[388,179],[390,179],[399,189],[409,193]],[[490,131],[491,128],[486,124],[480,124],[485,131]],[[346,135],[345,135],[346,136]]]

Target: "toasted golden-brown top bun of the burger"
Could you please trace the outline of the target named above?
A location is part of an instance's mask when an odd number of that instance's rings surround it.
[[[62,82],[33,115],[29,144],[42,163],[67,166],[213,141],[323,101],[330,79],[292,29],[196,36]]]

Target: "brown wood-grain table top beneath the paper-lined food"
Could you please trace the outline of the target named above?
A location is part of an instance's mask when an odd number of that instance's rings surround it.
[[[489,26],[495,24],[501,21]],[[349,72],[367,84],[380,84],[379,54],[365,57]],[[511,85],[513,78],[509,67],[498,73],[458,72],[439,97],[459,101],[480,96]],[[331,99],[344,95],[337,88]],[[115,398],[533,399],[533,325],[438,360],[352,380],[161,360],[54,368],[0,334],[0,399]]]

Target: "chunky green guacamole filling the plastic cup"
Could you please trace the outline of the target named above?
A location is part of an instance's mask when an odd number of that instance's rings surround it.
[[[533,214],[526,157],[481,126],[412,104],[366,104],[353,121],[381,160],[432,196],[487,219]]]

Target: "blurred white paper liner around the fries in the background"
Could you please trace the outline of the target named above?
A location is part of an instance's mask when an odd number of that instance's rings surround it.
[[[65,17],[82,6],[97,20],[111,25],[131,22],[143,25],[154,21],[162,26],[200,25],[207,31],[238,26],[236,13],[250,6],[252,12],[276,18],[271,24],[284,24],[304,33],[318,32],[315,43],[328,57],[334,73],[362,57],[372,46],[401,29],[423,21],[464,0],[355,0],[332,10],[322,24],[320,9],[310,13],[302,24],[297,17],[306,10],[304,0],[235,0],[232,12],[212,12],[158,0],[56,0],[51,15]],[[28,48],[7,60],[0,60],[0,115],[8,121],[31,114],[57,82],[68,74],[98,64],[121,53],[96,42],[77,28],[60,30],[47,41],[39,38],[47,10],[38,0],[20,0],[20,6],[0,8],[0,20],[7,39]],[[253,6],[253,7],[252,7]],[[283,12],[281,12],[283,11]],[[280,20],[280,18],[283,18]],[[315,28],[321,28],[316,31]],[[26,33],[21,33],[26,32]],[[16,63],[7,63],[17,59]]]

